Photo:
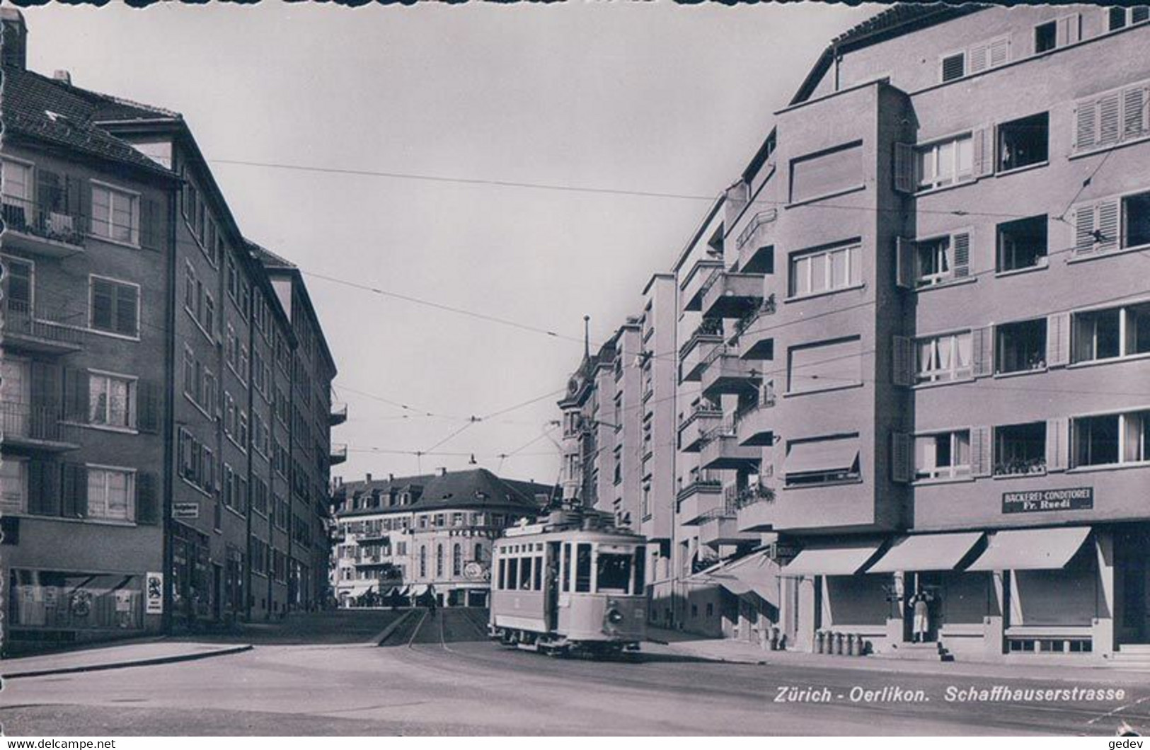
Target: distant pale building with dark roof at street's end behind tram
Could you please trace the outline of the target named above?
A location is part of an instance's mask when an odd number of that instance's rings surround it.
[[[335,596],[340,606],[486,606],[491,544],[531,521],[557,488],[488,469],[337,482]]]

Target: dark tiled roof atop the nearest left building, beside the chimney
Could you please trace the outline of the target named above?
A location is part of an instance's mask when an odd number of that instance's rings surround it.
[[[95,124],[99,97],[31,70],[5,68],[0,117],[6,132],[172,176],[170,170]]]

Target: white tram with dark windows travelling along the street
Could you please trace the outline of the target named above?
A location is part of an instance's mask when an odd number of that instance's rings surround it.
[[[618,653],[646,635],[646,539],[607,513],[555,511],[494,544],[490,635],[543,651]]]

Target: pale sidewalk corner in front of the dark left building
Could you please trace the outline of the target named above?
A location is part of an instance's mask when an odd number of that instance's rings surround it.
[[[95,672],[120,667],[138,667],[174,661],[193,661],[209,657],[251,651],[247,644],[179,643],[176,641],[151,641],[113,645],[100,649],[84,649],[60,653],[44,653],[0,661],[0,676],[36,678],[47,674]]]

